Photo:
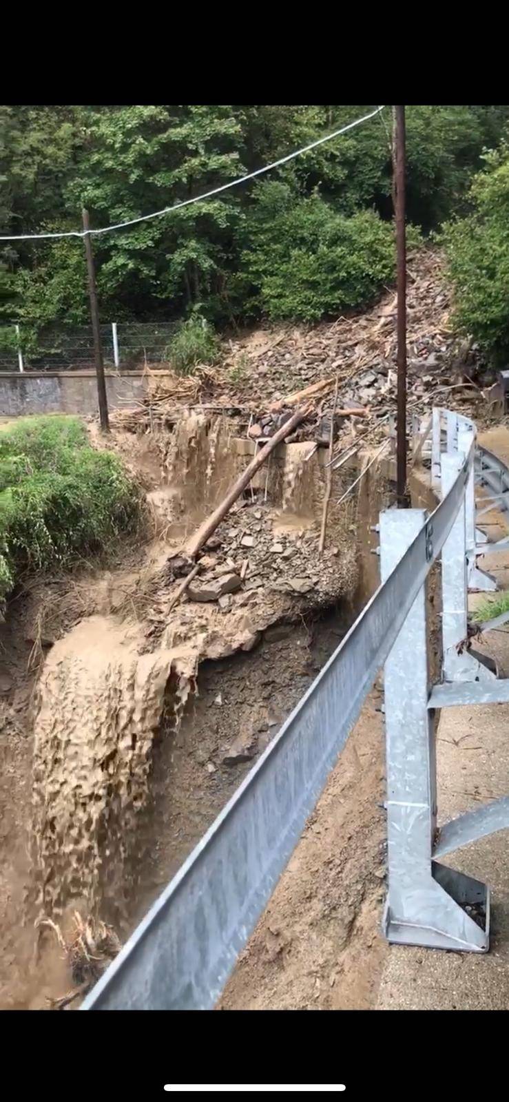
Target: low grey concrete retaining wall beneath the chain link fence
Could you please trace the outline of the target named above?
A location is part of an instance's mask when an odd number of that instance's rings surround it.
[[[106,371],[106,389],[110,409],[128,409],[143,397],[147,383],[142,371]],[[96,372],[0,374],[0,417],[29,413],[97,413]]]

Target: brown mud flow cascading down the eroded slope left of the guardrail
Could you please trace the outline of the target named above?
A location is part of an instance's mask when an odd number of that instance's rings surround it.
[[[303,442],[273,452],[175,602],[186,539],[257,443],[193,412],[112,443],[144,487],[144,534],[102,570],[32,584],[2,625],[3,1007],[79,1005],[377,582],[387,484],[373,467],[338,506],[357,468],[335,473],[318,555],[326,453]]]

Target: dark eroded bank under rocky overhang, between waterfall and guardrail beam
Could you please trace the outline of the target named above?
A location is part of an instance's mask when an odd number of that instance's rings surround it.
[[[269,629],[249,653],[199,666],[178,731],[163,721],[150,801],[140,817],[141,860],[131,929],[178,869],[313,682],[347,629],[340,609]]]

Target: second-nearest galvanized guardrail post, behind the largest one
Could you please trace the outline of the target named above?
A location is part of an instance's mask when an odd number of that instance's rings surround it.
[[[465,441],[464,441],[465,443]],[[470,444],[473,446],[473,442]],[[454,485],[464,453],[442,455],[442,497]],[[486,681],[496,677],[489,660],[467,650],[466,498],[442,548],[442,642],[444,681]],[[475,529],[474,529],[475,530]]]

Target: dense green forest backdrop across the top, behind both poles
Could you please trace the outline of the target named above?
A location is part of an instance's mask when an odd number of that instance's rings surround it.
[[[93,226],[214,188],[347,123],[362,106],[0,108],[2,227]],[[424,233],[462,213],[508,107],[407,109],[408,215]],[[391,114],[386,109],[258,182],[97,237],[102,320],[215,325],[267,313],[314,318],[368,299],[390,277]],[[271,212],[273,224],[271,225]],[[0,318],[88,320],[79,239],[2,251]],[[12,333],[7,336],[12,339]]]

